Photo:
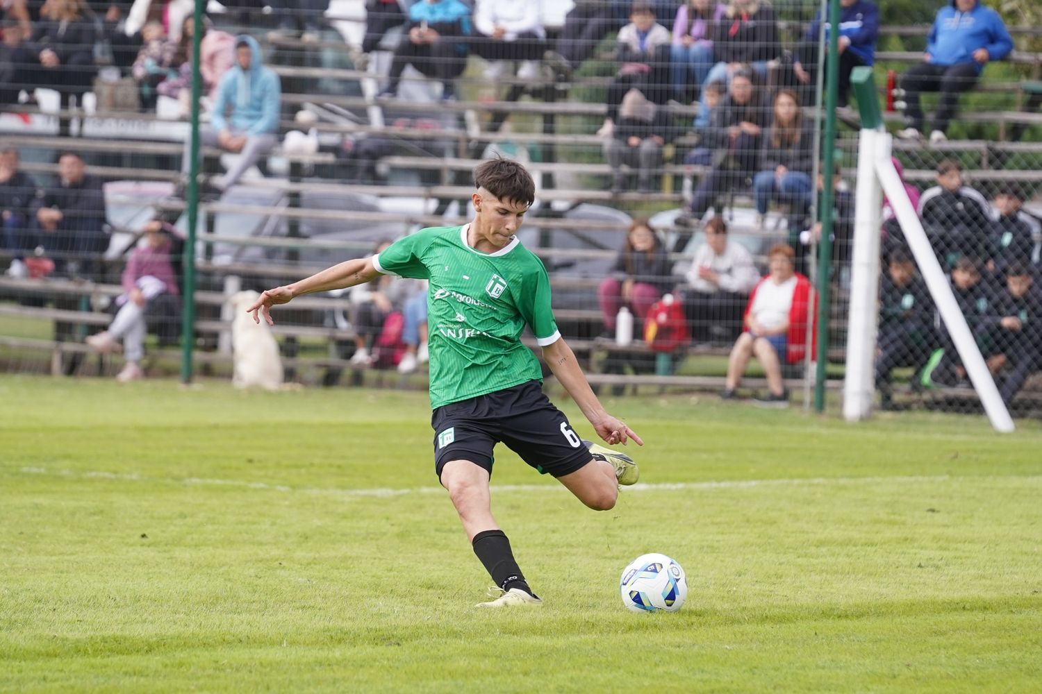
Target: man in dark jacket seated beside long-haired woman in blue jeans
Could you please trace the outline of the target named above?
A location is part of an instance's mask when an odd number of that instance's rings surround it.
[[[747,70],[736,72],[731,76],[727,97],[717,108],[716,119],[704,133],[705,147],[715,150],[713,169],[695,188],[694,198],[674,224],[694,226],[718,197],[756,171],[766,111],[760,94],[752,85],[752,74]],[[688,240],[688,236],[680,234],[674,249],[683,250]]]

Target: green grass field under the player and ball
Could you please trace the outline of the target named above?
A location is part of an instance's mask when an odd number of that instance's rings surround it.
[[[1042,688],[1038,422],[606,404],[645,484],[596,513],[502,452],[546,605],[490,614],[422,393],[0,377],[0,690]],[[680,612],[623,609],[645,551]]]

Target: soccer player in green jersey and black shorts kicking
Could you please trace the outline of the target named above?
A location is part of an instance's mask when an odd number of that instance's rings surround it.
[[[254,320],[263,314],[272,324],[271,307],[301,294],[354,286],[388,273],[428,280],[435,471],[474,554],[501,591],[478,607],[537,606],[542,600],[492,516],[495,444],[505,443],[594,510],[613,508],[618,485],[634,484],[639,471],[628,456],[584,442],[543,394],[539,361],[520,339],[524,327],[531,328],[550,370],[601,439],[613,445],[644,442],[604,411],[590,389],[554,323],[546,268],[515,236],[536,198],[531,176],[516,161],[493,159],[474,171],[474,184],[470,224],[422,229],[371,258],[269,289],[248,310]]]

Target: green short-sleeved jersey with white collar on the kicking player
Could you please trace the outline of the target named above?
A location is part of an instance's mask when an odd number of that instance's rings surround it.
[[[373,257],[377,272],[429,281],[431,408],[542,380],[521,332],[527,325],[541,346],[561,337],[543,262],[517,237],[475,251],[469,227],[421,229]]]

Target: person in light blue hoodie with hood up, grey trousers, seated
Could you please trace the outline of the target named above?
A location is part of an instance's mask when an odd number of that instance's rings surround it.
[[[221,78],[210,109],[209,125],[199,129],[200,146],[219,147],[239,154],[235,163],[214,187],[225,190],[234,185],[256,161],[278,142],[278,111],[281,83],[271,68],[264,66],[256,38],[241,34],[235,38],[235,62]],[[190,143],[185,144],[181,172],[192,163]]]

